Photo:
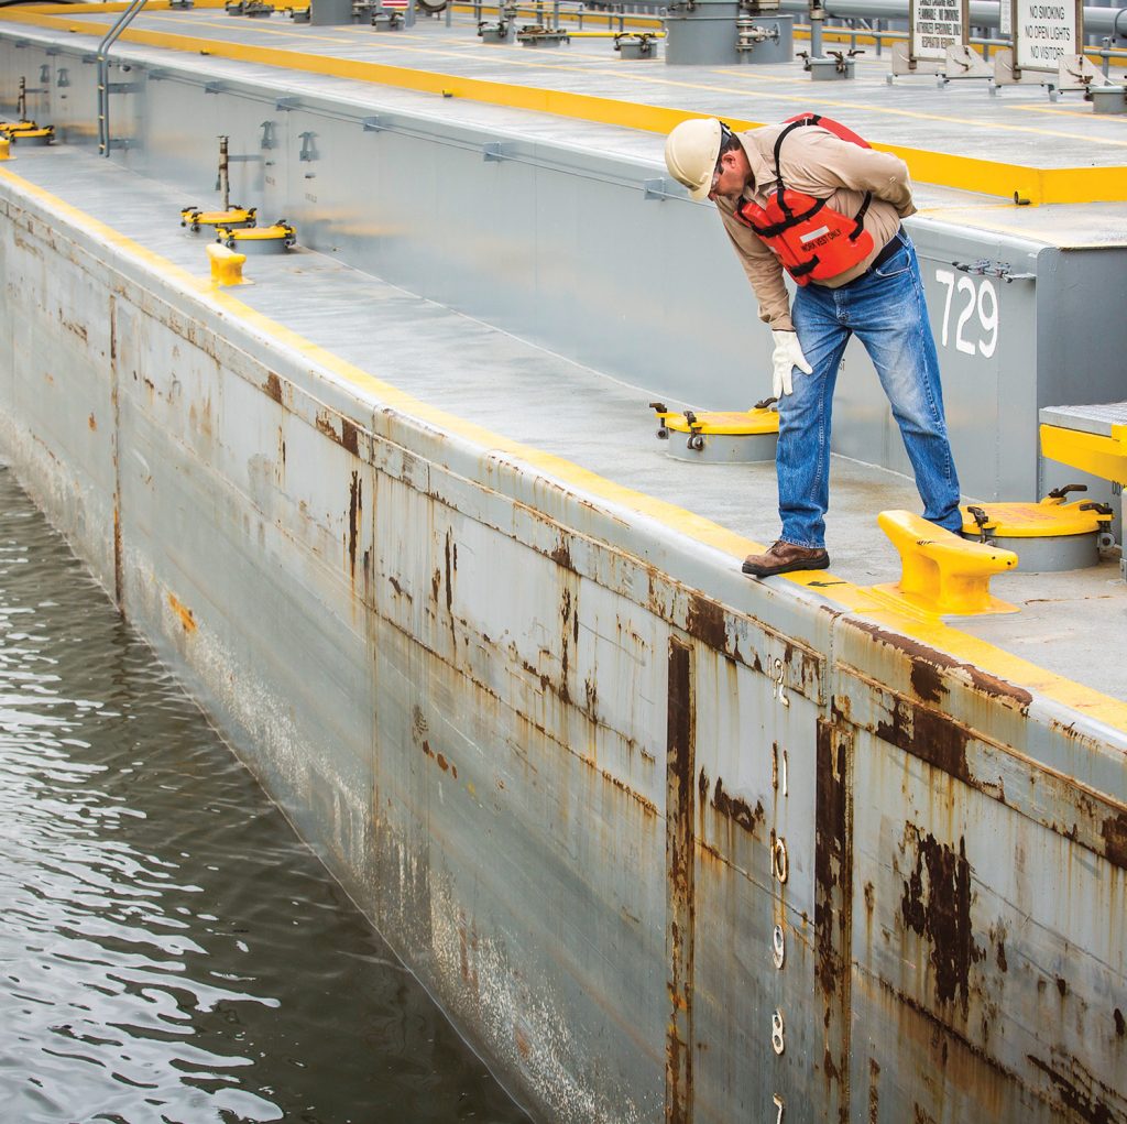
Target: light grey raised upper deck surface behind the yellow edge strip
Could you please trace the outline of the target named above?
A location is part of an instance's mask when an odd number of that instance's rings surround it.
[[[103,12],[68,11],[65,15],[66,27],[74,32],[80,33],[83,26],[89,26],[91,41],[100,37],[109,20],[110,17]],[[62,21],[56,17],[55,23]],[[41,33],[28,28],[27,34],[33,37]],[[76,35],[68,34],[68,39],[74,42]],[[988,95],[984,81],[952,82],[937,89],[933,79],[928,82],[900,79],[889,87],[886,83],[887,54],[859,57],[857,79],[834,83],[832,96],[827,96],[820,83],[811,85],[797,62],[638,68],[623,64],[611,39],[574,38],[568,47],[550,56],[529,52],[518,43],[486,46],[474,34],[469,12],[460,14],[450,28],[438,20],[420,20],[414,28],[391,37],[374,34],[372,28],[364,26],[312,27],[283,20],[268,25],[232,20],[222,10],[214,9],[145,11],[125,32],[115,54],[121,56],[147,50],[142,46],[145,41],[150,46],[179,43],[181,51],[194,54],[202,67],[207,67],[208,61],[199,57],[198,46],[192,41],[291,52],[294,57],[290,65],[295,71],[321,65],[307,67],[301,59],[305,55],[425,71],[451,79],[584,95],[629,105],[635,116],[640,116],[647,107],[664,107],[717,114],[736,121],[772,122],[801,109],[813,109],[846,121],[875,143],[920,148],[969,161],[1042,170],[1127,165],[1127,135],[1122,122],[1093,116],[1091,107],[1081,101],[1079,95],[1050,104],[1040,87],[1008,87],[995,97]],[[259,73],[269,72],[281,64],[282,60],[274,56],[273,65],[255,69]],[[308,81],[300,86],[309,90],[326,89],[325,83],[344,80],[310,73]],[[389,73],[385,80],[393,83],[396,78]],[[454,96],[463,99],[458,89]],[[472,99],[476,95],[468,90],[464,96]],[[573,122],[573,126],[577,124]],[[638,127],[663,126],[641,124]],[[637,148],[630,148],[631,154],[637,153]],[[659,156],[659,147],[654,151]],[[968,165],[965,186],[970,187],[982,175],[983,169]]]

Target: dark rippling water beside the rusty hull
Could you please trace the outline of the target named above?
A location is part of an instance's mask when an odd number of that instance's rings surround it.
[[[507,1099],[0,467],[0,1119]]]

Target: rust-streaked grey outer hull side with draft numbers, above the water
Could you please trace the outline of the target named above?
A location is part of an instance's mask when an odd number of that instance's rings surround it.
[[[1127,1121],[1113,706],[748,583],[7,172],[0,266],[6,455],[539,1118]]]

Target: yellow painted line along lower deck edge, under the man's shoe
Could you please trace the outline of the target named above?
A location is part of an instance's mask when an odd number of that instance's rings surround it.
[[[675,528],[678,533],[693,541],[727,555],[733,559],[734,565],[740,561],[744,555],[763,548],[762,543],[746,539],[683,507],[614,484],[612,480],[607,480],[605,477],[582,468],[565,458],[503,437],[483,426],[431,406],[362,368],[346,362],[332,352],[256,311],[236,297],[215,289],[210,281],[188,273],[21,176],[0,168],[0,180],[9,182],[80,229],[85,229],[108,245],[116,246],[141,259],[158,274],[185,286],[204,301],[214,303],[228,315],[254,327],[267,338],[273,338],[283,346],[292,348],[310,362],[331,371],[345,382],[379,398],[381,408],[390,407],[408,417],[458,434],[481,445],[490,453],[504,453],[517,458],[530,467],[565,481],[577,492],[598,496],[607,503],[625,507],[668,528]],[[1127,702],[1120,702],[1118,699],[1092,690],[1083,683],[1077,683],[1019,656],[1013,656],[996,645],[949,625],[921,622],[914,617],[891,612],[863,586],[840,581],[824,570],[787,575],[787,579],[797,585],[810,587],[811,592],[826,601],[836,602],[852,612],[863,614],[889,629],[946,652],[958,660],[964,660],[968,664],[997,675],[1014,685],[1053,699],[1085,717],[1127,733]],[[823,588],[814,586],[814,583],[819,583],[819,585],[833,583],[831,586],[833,593],[826,594]]]

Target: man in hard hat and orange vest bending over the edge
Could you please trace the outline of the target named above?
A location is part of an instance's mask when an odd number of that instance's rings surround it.
[[[920,265],[900,227],[915,213],[907,166],[818,120],[745,133],[685,121],[665,145],[669,174],[716,203],[774,337],[782,533],[744,561],[756,577],[829,565],[829,421],[851,335],[891,404],[924,517],[956,532],[962,523]],[[798,286],[793,307],[784,266]]]

